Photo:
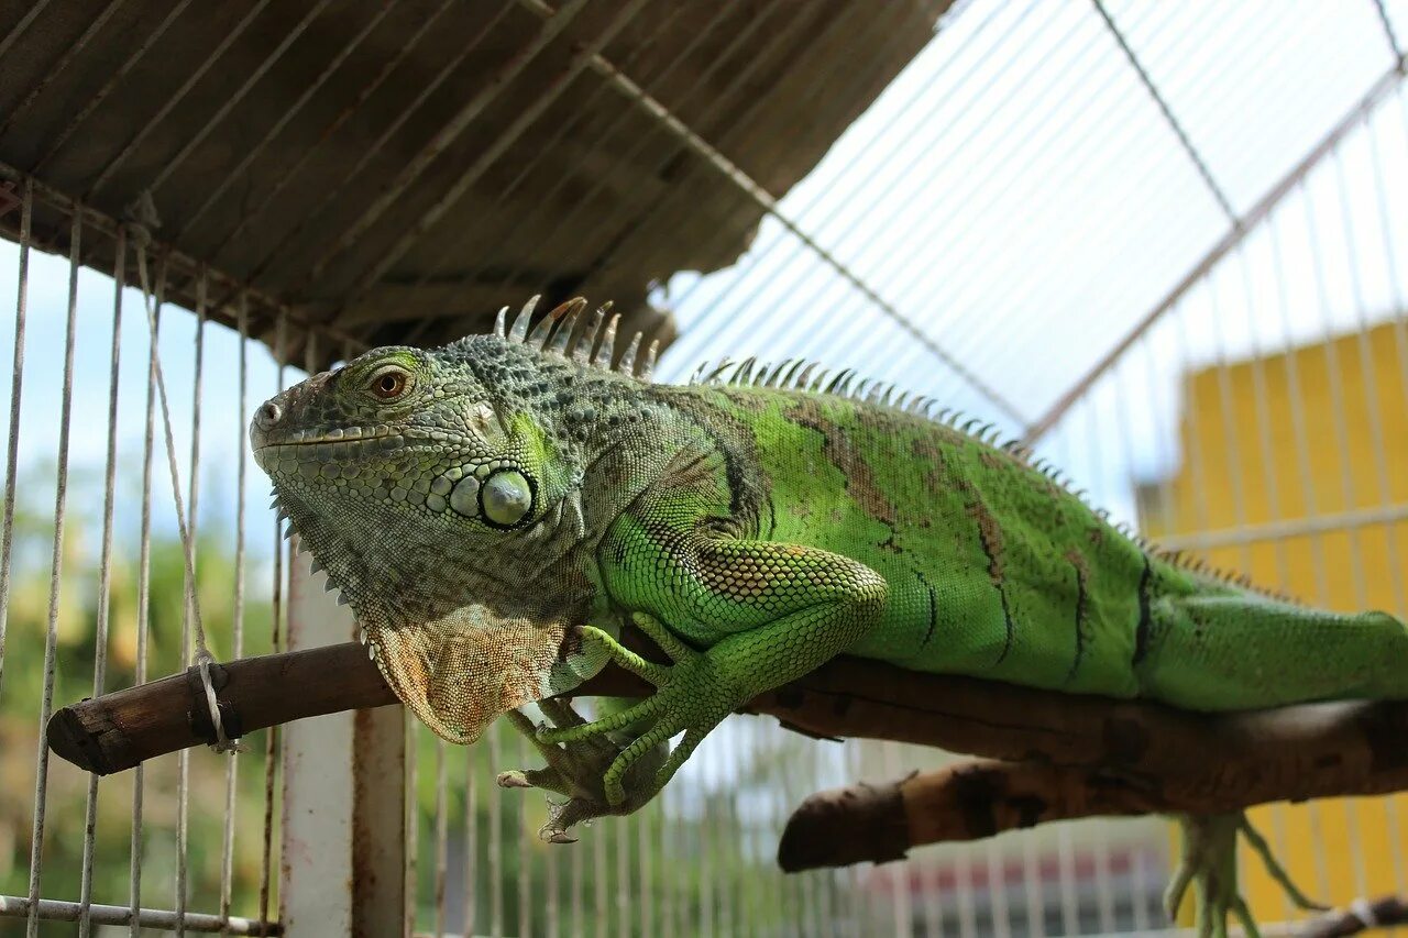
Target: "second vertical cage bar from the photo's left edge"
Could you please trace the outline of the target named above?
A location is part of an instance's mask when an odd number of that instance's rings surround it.
[[[34,828],[30,841],[30,917],[25,923],[28,938],[39,934],[39,873],[44,868],[44,820],[49,784],[49,746],[44,730],[54,711],[55,652],[59,639],[59,596],[63,584],[63,527],[69,490],[69,432],[73,425],[73,346],[77,339],[79,263],[82,256],[83,220],[73,215],[69,227],[69,301],[68,325],[63,337],[63,392],[59,401],[59,452],[54,486],[54,554],[49,562],[49,613],[44,637],[44,693],[39,700],[39,730],[34,769]]]

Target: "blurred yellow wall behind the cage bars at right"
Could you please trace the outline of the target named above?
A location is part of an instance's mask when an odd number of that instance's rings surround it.
[[[1181,466],[1169,486],[1142,493],[1145,530],[1156,538],[1187,537],[1408,504],[1408,361],[1400,351],[1408,354],[1408,334],[1383,325],[1190,375]],[[1297,442],[1297,420],[1305,445]],[[1404,521],[1202,554],[1315,606],[1408,613]],[[1347,903],[1402,889],[1408,876],[1401,868],[1408,862],[1408,796],[1270,806],[1255,810],[1252,821],[1312,899]],[[1283,918],[1288,907],[1280,889],[1255,858],[1242,859],[1253,911],[1263,921]]]

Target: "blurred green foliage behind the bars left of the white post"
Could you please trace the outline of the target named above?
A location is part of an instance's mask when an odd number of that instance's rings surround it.
[[[45,634],[49,608],[49,569],[54,524],[52,472],[31,470],[20,484],[15,508],[13,586],[8,631],[0,683],[0,892],[28,894],[34,824],[35,752],[44,694]],[[62,577],[56,618],[54,707],[93,694],[99,628],[101,479],[77,473],[70,480],[63,538]],[[137,499],[127,506],[139,504]],[[120,504],[122,499],[120,496]],[[135,514],[135,513],[134,513]],[[106,690],[137,683],[138,646],[146,632],[146,677],[182,669],[184,562],[173,525],[151,539],[151,608],[141,618],[139,530],[120,515],[114,534]],[[197,583],[201,615],[218,655],[228,655],[234,634],[234,532],[203,524],[197,539]],[[246,570],[244,654],[270,648],[272,608],[268,565]],[[144,628],[145,627],[145,628]],[[231,910],[256,915],[262,869],[265,739],[245,741],[234,787],[235,824],[231,866]],[[189,828],[186,894],[191,908],[217,911],[224,858],[224,806],[228,756],[191,751],[189,756]],[[41,896],[77,900],[89,792],[87,773],[58,758],[48,765]],[[132,845],[135,772],[101,779],[93,818],[93,901],[127,906]],[[142,772],[141,903],[176,904],[180,759],[155,759]],[[197,906],[199,903],[199,906]],[[0,934],[13,921],[0,920]],[[63,934],[70,925],[46,924],[42,934]]]

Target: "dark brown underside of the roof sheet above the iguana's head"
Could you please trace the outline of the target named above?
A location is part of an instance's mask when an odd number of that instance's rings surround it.
[[[946,7],[867,30],[866,0],[3,0],[0,170],[52,196],[52,251],[55,203],[128,218],[151,193],[213,318],[249,287],[252,334],[313,327],[286,361],[438,344],[535,292],[611,297],[667,342],[650,286],[732,263]],[[196,280],[172,265],[166,296],[194,307]],[[341,346],[310,351],[318,327]]]

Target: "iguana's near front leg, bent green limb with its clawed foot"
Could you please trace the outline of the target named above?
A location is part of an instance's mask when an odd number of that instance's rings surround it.
[[[636,611],[635,621],[674,663],[648,662],[605,632],[584,628],[584,639],[600,644],[656,692],[593,723],[538,732],[545,745],[570,748],[632,728],[635,738],[603,775],[612,808],[648,801],[724,717],[841,654],[884,611],[884,579],[826,551],[693,534],[669,537],[646,525],[631,525],[621,538],[621,569],[614,580],[608,577],[612,593],[625,604],[649,610]],[[677,734],[684,735],[652,776],[632,773],[642,756]]]

